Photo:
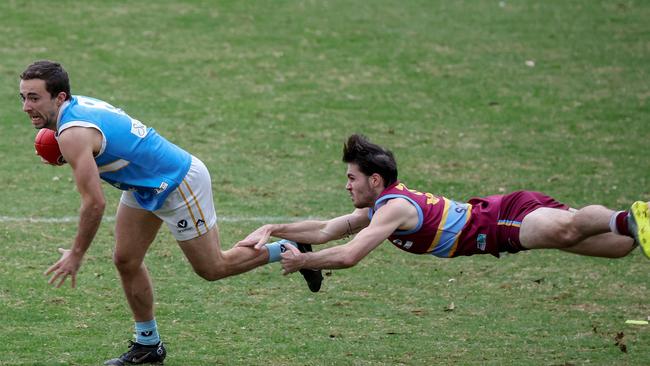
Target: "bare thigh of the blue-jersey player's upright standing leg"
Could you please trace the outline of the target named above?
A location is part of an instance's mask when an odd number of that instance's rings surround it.
[[[115,259],[141,262],[156,238],[162,220],[150,211],[120,202],[115,223]]]

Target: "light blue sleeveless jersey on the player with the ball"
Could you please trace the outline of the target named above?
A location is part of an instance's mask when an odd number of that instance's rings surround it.
[[[73,126],[96,128],[102,134],[95,156],[99,176],[111,185],[134,192],[146,210],[156,210],[183,181],[191,155],[98,99],[75,95],[59,112],[57,134]]]

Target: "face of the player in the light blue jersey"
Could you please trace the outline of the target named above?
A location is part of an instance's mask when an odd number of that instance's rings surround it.
[[[44,80],[21,80],[20,97],[23,100],[23,111],[29,116],[34,128],[56,125],[60,103],[47,92]]]

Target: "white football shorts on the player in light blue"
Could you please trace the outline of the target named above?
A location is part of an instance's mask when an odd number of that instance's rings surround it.
[[[133,192],[122,192],[120,202],[142,209],[133,197]],[[152,213],[167,224],[178,241],[194,239],[207,233],[217,223],[217,213],[212,200],[210,172],[205,164],[192,156],[190,170],[183,182]]]

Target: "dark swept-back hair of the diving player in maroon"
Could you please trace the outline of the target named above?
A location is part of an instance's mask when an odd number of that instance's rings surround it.
[[[363,135],[354,134],[343,145],[343,162],[354,163],[365,175],[379,174],[384,187],[397,181],[397,163],[393,153],[375,145]]]

